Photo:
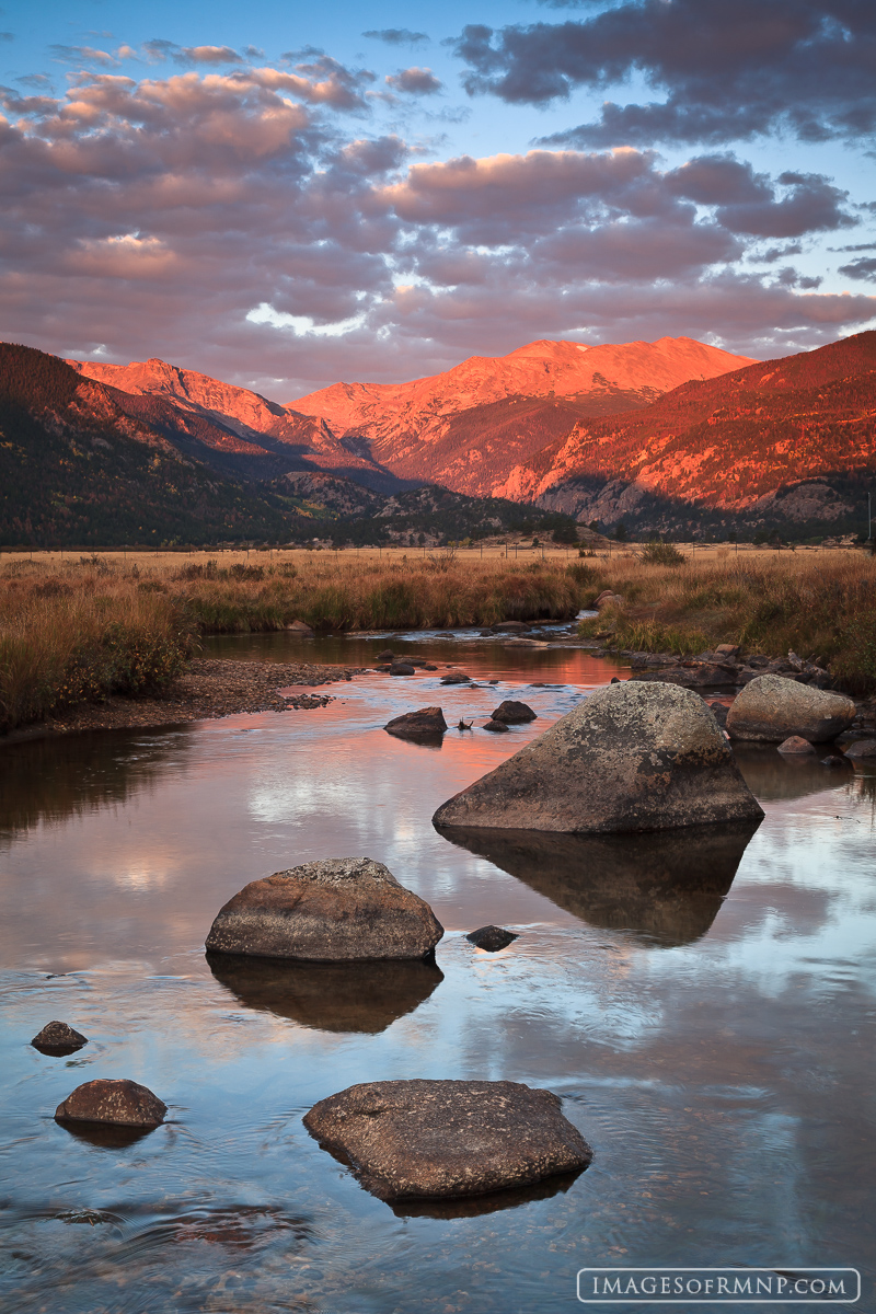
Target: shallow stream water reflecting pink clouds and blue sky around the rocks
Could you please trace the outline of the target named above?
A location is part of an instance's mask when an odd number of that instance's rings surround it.
[[[437,804],[619,668],[415,644],[478,687],[376,674],[326,708],[0,754],[4,1310],[559,1310],[580,1267],[612,1263],[872,1276],[876,773],[747,750],[754,834],[452,844]],[[209,650],[376,658],[343,637]],[[508,735],[428,748],[382,731],[439,702],[477,727],[512,696],[540,719]],[[234,891],[341,854],[432,904],[435,967],[208,963]],[[520,938],[481,953],[465,932],[486,922]],[[55,1017],[89,1045],[33,1050]],[[144,1083],[168,1123],[131,1144],[71,1135],[54,1109],[96,1076]],[[491,1212],[395,1213],[301,1117],[414,1076],[548,1087],[594,1164]]]

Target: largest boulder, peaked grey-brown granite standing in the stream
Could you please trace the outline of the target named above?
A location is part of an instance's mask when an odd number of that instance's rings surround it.
[[[697,694],[624,681],[591,694],[432,820],[608,834],[762,816]]]

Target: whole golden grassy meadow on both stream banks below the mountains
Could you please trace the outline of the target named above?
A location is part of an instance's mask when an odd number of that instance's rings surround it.
[[[0,561],[0,732],[110,694],[156,694],[208,633],[583,622],[633,650],[741,643],[829,662],[876,689],[876,560],[856,551],[684,548],[7,555]],[[668,553],[671,557],[672,553]]]

